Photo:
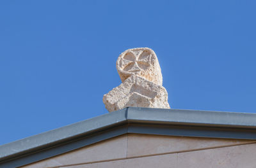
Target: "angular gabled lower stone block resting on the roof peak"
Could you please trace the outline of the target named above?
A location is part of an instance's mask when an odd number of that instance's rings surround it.
[[[135,75],[104,95],[103,102],[109,112],[127,107],[170,108],[164,87]]]

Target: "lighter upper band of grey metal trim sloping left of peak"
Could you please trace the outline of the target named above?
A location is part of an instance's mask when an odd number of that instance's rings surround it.
[[[61,143],[70,138],[74,139],[77,136],[83,136],[83,134],[89,134],[90,132],[96,132],[105,127],[111,127],[111,125],[125,122],[125,113],[127,113],[127,109],[122,109],[67,125],[59,129],[50,130],[36,136],[26,137],[19,141],[3,144],[0,146],[0,162],[5,159],[5,157],[13,157],[13,155],[19,155],[20,153],[28,152],[28,150],[41,148],[42,146],[51,146],[51,144]]]

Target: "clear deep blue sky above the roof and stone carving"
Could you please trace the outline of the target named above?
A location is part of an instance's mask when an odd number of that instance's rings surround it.
[[[0,144],[108,111],[147,46],[171,108],[256,112],[256,1],[0,1]]]

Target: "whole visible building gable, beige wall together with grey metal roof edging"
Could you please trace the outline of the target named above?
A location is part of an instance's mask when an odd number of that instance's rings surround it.
[[[125,108],[4,144],[0,167],[256,167],[256,114]]]

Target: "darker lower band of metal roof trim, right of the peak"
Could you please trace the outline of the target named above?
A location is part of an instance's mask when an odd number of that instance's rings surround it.
[[[212,137],[225,139],[256,139],[256,130],[223,127],[131,124],[128,133],[162,136]]]

